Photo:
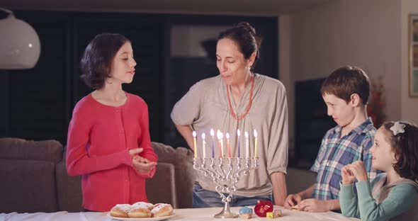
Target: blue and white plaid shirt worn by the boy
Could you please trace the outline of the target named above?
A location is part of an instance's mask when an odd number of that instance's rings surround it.
[[[338,199],[341,168],[357,160],[363,161],[368,179],[375,178],[377,172],[371,167],[371,154],[368,152],[373,146],[375,132],[376,129],[370,118],[344,137],[341,137],[339,125],[328,130],[322,138],[315,164],[310,169],[317,173],[312,198]]]

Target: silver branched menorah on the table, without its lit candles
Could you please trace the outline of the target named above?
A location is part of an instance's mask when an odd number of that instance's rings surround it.
[[[216,184],[216,191],[225,203],[221,212],[215,218],[236,218],[239,215],[230,210],[233,193],[237,190],[239,177],[247,176],[249,171],[259,168],[258,157],[223,157],[223,158],[195,158],[193,169],[202,171],[204,176],[210,176]],[[225,193],[228,196],[225,196]]]

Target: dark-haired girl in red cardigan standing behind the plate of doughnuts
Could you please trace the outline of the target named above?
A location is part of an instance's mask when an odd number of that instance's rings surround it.
[[[122,89],[132,82],[136,64],[130,40],[112,33],[91,40],[81,59],[81,78],[95,91],[74,107],[67,171],[81,175],[86,210],[148,201],[145,179],[154,176],[157,155],[149,138],[147,103]]]

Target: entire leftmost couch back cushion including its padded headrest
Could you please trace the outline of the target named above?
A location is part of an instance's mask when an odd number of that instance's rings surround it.
[[[62,151],[55,140],[0,138],[0,211],[55,212],[55,164]]]

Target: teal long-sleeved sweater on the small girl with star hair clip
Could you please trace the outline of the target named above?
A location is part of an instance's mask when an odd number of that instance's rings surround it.
[[[354,184],[344,186],[340,183],[339,203],[342,215],[361,220],[389,220],[393,217],[396,217],[394,220],[399,220],[397,216],[407,212],[416,203],[418,184],[408,179],[390,185],[385,182],[385,173],[379,174],[370,183],[357,182],[357,194],[354,193]],[[418,214],[416,211],[408,211],[408,214],[410,212]],[[409,216],[411,220],[414,218],[416,217]]]

